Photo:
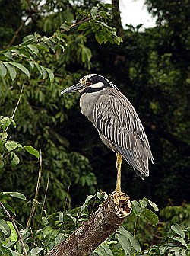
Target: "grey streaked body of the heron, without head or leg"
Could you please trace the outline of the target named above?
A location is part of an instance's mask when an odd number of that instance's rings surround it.
[[[85,101],[85,102],[84,102]],[[130,101],[115,88],[81,96],[82,113],[97,128],[103,142],[135,169],[135,174],[149,175],[148,162],[153,162],[144,127]]]

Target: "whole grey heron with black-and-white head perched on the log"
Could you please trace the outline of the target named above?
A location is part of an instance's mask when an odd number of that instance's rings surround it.
[[[144,126],[128,98],[102,75],[88,74],[61,94],[80,92],[81,113],[93,123],[103,143],[116,152],[116,188],[121,193],[122,158],[134,168],[135,176],[149,176],[150,150]]]

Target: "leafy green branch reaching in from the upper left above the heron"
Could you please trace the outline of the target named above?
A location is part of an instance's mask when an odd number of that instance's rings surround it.
[[[65,21],[59,28],[56,30],[51,37],[41,37],[40,34],[34,33],[34,35],[27,35],[24,37],[23,43],[8,48],[8,50],[3,50],[0,55],[0,76],[5,78],[6,75],[9,75],[13,81],[16,78],[17,69],[24,72],[25,75],[30,77],[30,70],[36,69],[40,72],[40,75],[43,79],[49,78],[49,81],[52,82],[54,74],[51,69],[39,65],[37,59],[42,57],[43,53],[56,53],[56,46],[59,46],[63,51],[65,46],[69,43],[72,43],[71,39],[65,32],[71,30],[72,27],[78,26],[78,30],[81,30],[84,35],[78,37],[78,50],[77,56],[78,61],[81,60],[86,66],[86,63],[90,62],[92,57],[90,49],[84,46],[86,41],[85,36],[87,34],[95,34],[95,37],[98,43],[121,43],[122,38],[116,35],[116,29],[109,27],[105,22],[110,18],[109,13],[106,12],[106,8],[110,5],[97,5],[90,10],[90,13],[87,11],[78,16],[81,18],[81,21],[72,24],[71,22]],[[103,9],[103,10],[102,10]],[[76,40],[76,37],[74,37]],[[34,59],[34,57],[37,59]],[[21,64],[20,62],[23,62]],[[89,64],[90,65],[90,64]],[[88,66],[90,68],[90,66]],[[17,68],[17,69],[15,69]]]

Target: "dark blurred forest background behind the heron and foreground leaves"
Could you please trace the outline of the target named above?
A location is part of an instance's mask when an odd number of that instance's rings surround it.
[[[29,34],[50,37],[64,21],[74,21],[82,10],[98,1],[67,0],[0,1],[0,47],[6,50]],[[154,165],[145,181],[134,177],[122,164],[122,190],[132,200],[147,197],[158,206],[189,202],[189,70],[188,1],[146,1],[157,18],[157,26],[142,29],[128,25],[122,30],[123,43],[99,44],[93,34],[73,28],[67,34],[65,51],[39,53],[36,62],[54,72],[49,85],[37,72],[30,78],[17,73],[11,81],[0,81],[1,115],[10,117],[24,84],[11,139],[43,152],[43,198],[50,175],[46,208],[62,210],[69,194],[71,206],[81,205],[95,190],[111,193],[116,183],[116,156],[101,142],[93,125],[81,114],[79,95],[60,91],[78,82],[82,75],[98,73],[109,78],[134,105],[144,124]],[[16,15],[15,15],[16,13]],[[10,44],[15,31],[27,22]],[[109,21],[112,24],[112,21]],[[85,53],[85,54],[84,54]],[[0,189],[17,190],[32,199],[36,187],[36,159],[21,152],[21,163],[0,170]],[[31,162],[33,163],[31,165]]]

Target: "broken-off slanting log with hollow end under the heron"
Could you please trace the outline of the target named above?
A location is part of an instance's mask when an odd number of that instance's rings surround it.
[[[87,222],[46,256],[87,256],[115,232],[131,213],[127,194],[113,192]]]

